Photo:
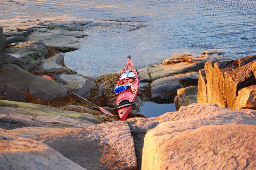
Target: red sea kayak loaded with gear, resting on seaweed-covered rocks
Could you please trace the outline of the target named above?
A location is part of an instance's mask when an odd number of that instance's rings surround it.
[[[138,73],[132,63],[131,57],[124,67],[119,81],[117,81],[114,89],[116,93],[116,107],[121,120],[126,120],[132,109],[135,98],[139,90]]]

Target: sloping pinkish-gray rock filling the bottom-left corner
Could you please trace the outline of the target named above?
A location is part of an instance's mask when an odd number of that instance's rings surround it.
[[[0,128],[0,169],[77,169],[82,166],[65,158],[48,145],[20,137]]]

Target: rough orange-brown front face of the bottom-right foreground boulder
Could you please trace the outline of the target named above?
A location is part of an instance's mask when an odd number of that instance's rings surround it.
[[[214,125],[165,136],[153,167],[143,164],[142,169],[254,169],[255,130],[255,125]]]

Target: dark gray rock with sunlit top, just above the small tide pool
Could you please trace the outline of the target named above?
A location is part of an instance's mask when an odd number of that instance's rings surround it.
[[[183,81],[189,82],[189,84],[192,85],[197,85],[198,73],[192,72],[187,74],[179,74],[153,81],[151,84],[152,100],[156,100],[160,103],[173,101],[174,97],[176,96],[176,90],[186,87],[186,83],[181,83],[182,85],[180,84],[180,82]]]

